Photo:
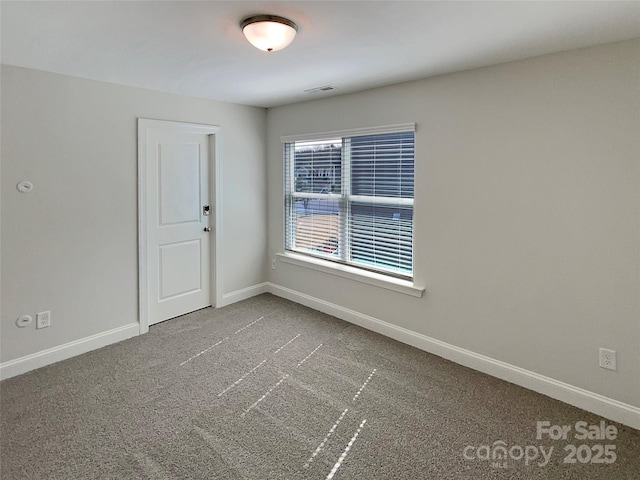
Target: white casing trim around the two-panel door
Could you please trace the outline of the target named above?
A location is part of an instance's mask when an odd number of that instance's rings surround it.
[[[204,134],[209,136],[209,205],[214,220],[211,248],[210,298],[211,305],[222,302],[222,275],[220,274],[221,249],[218,248],[222,226],[222,162],[220,160],[220,131],[218,125],[200,123],[184,123],[169,120],[138,118],[138,315],[140,334],[149,331],[148,308],[148,252],[147,252],[147,129],[180,129],[183,132]]]

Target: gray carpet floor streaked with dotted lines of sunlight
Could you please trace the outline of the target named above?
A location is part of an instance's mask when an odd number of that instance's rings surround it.
[[[3,480],[640,479],[637,430],[538,440],[537,421],[603,419],[268,294],[5,380],[0,398]],[[496,446],[506,458],[487,460]]]

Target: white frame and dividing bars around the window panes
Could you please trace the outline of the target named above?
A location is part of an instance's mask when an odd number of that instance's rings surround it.
[[[281,141],[283,144],[283,167],[284,167],[284,185],[283,185],[283,195],[284,195],[284,255],[283,260],[288,257],[289,259],[293,259],[295,261],[290,261],[288,263],[300,264],[304,262],[306,258],[309,259],[309,265],[311,268],[318,269],[318,265],[325,265],[326,269],[323,271],[335,271],[339,272],[340,276],[347,276],[344,272],[348,272],[348,276],[351,277],[353,275],[362,274],[365,279],[374,278],[374,284],[385,283],[386,281],[390,281],[392,285],[400,285],[403,289],[409,288],[414,296],[421,296],[422,289],[414,289],[413,287],[413,279],[415,275],[414,271],[414,245],[415,245],[415,228],[414,221],[415,218],[413,208],[414,208],[414,199],[411,198],[402,198],[402,197],[389,197],[386,200],[392,200],[394,205],[398,205],[398,203],[404,203],[407,206],[410,205],[412,208],[412,221],[411,221],[411,272],[403,273],[399,271],[393,270],[385,270],[384,268],[367,268],[365,265],[359,262],[350,261],[350,248],[351,248],[351,237],[349,233],[349,228],[351,224],[350,220],[350,208],[351,204],[358,201],[365,201],[367,203],[371,202],[374,205],[384,205],[385,197],[375,197],[369,195],[353,195],[351,194],[351,163],[350,163],[350,148],[348,147],[347,142],[350,141],[351,137],[356,136],[365,136],[365,135],[384,135],[389,133],[406,133],[412,132],[414,134],[414,147],[415,147],[415,131],[416,124],[415,123],[403,123],[396,125],[389,125],[383,127],[369,127],[369,128],[359,128],[359,129],[350,129],[350,130],[337,130],[337,131],[329,131],[315,134],[301,134],[301,135],[286,135],[281,137]],[[288,144],[294,144],[295,142],[321,142],[326,140],[337,140],[340,139],[342,141],[342,159],[341,159],[341,189],[340,193],[307,193],[307,192],[295,192],[295,172],[294,169],[290,167],[289,162],[293,162],[293,147],[289,147]],[[287,148],[291,148],[292,151],[288,152]],[[415,154],[414,154],[414,165],[415,165]],[[414,182],[415,182],[415,171],[414,171]],[[341,250],[338,252],[339,258],[336,258],[333,254],[322,254],[322,252],[305,252],[297,249],[288,248],[287,242],[288,239],[293,239],[295,237],[294,232],[291,231],[292,228],[296,228],[295,222],[287,221],[287,218],[291,218],[293,215],[293,208],[295,205],[295,198],[309,198],[309,199],[327,199],[327,200],[337,200],[338,211],[339,211],[339,227],[338,234],[340,236],[338,240],[338,245]],[[382,201],[381,201],[382,200]],[[371,283],[367,281],[366,283]],[[396,288],[392,288],[396,290]],[[415,291],[414,291],[415,290]],[[415,295],[416,292],[419,292],[419,295]],[[406,291],[404,293],[407,293]]]

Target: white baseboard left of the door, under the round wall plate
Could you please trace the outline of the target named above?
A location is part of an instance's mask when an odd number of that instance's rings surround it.
[[[81,355],[91,350],[96,350],[106,345],[135,337],[139,334],[140,324],[138,322],[130,323],[123,327],[107,330],[106,332],[81,338],[80,340],[74,340],[64,345],[16,358],[15,360],[9,360],[8,362],[0,364],[0,380],[15,377],[16,375],[21,375],[36,368],[66,360],[67,358],[75,357],[76,355]]]

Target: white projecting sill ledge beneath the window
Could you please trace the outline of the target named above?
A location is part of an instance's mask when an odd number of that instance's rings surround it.
[[[276,256],[284,263],[310,268],[330,275],[337,275],[339,277],[348,278],[349,280],[374,285],[376,287],[403,293],[412,297],[420,298],[424,293],[424,288],[416,287],[413,282],[410,282],[409,280],[392,278],[379,273],[360,270],[359,268],[350,267],[348,265],[340,265],[333,262],[307,257],[305,255],[297,255],[295,253],[277,253]]]

